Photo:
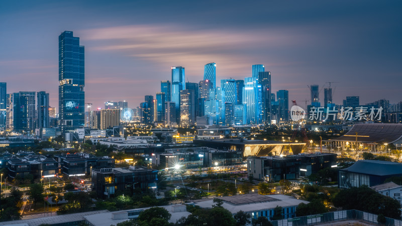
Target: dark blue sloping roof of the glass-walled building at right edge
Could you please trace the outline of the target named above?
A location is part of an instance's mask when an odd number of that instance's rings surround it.
[[[378,160],[359,160],[350,167],[340,171],[377,176],[397,175],[402,174],[402,164]]]

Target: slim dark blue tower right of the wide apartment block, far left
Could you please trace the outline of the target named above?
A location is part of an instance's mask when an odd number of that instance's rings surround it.
[[[36,93],[36,128],[49,128],[49,93]]]

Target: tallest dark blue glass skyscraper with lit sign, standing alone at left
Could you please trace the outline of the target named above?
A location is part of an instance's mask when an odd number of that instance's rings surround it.
[[[71,31],[59,36],[59,118],[62,133],[84,127],[84,47]]]

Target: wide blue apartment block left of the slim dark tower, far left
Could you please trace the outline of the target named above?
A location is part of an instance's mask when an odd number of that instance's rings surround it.
[[[36,129],[36,92],[13,94],[14,130],[32,132]]]

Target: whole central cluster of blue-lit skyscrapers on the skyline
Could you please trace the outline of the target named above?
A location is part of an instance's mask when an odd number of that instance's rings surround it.
[[[204,77],[198,83],[184,82],[185,68],[171,67],[171,81],[161,81],[156,99],[146,95],[140,103],[144,124],[164,122],[167,125],[245,125],[270,124],[271,120],[288,120],[288,92],[278,91],[272,100],[271,72],[262,64],[252,65],[250,77],[244,80],[216,81],[216,63],[204,66]],[[220,84],[220,86],[217,86]],[[151,104],[153,100],[155,104]],[[273,111],[272,102],[278,107]],[[154,111],[154,118],[149,114]],[[175,110],[173,110],[173,108]]]

